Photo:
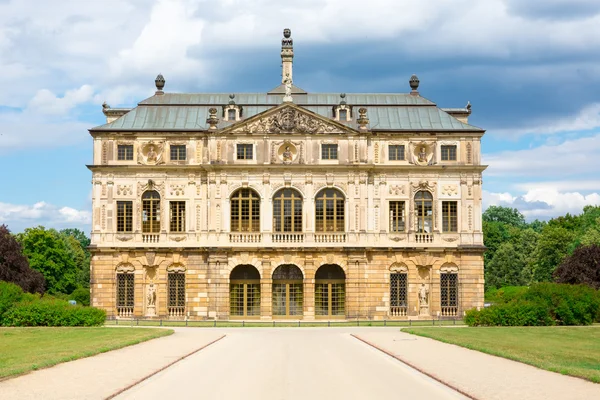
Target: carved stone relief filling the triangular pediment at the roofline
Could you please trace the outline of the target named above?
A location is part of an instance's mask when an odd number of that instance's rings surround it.
[[[232,133],[344,133],[335,124],[325,122],[293,107],[285,107],[272,115],[242,124]]]

